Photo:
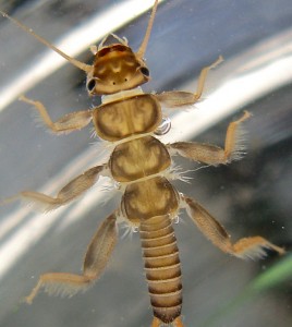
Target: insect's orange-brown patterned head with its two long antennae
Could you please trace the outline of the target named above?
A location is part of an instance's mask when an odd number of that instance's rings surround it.
[[[119,41],[119,44],[117,43],[104,46],[104,43],[107,39],[106,37],[99,45],[98,49],[96,47],[92,47],[95,55],[93,65],[71,58],[45,38],[34,33],[32,28],[25,26],[15,19],[10,17],[2,11],[0,11],[0,13],[20,28],[33,35],[41,44],[66,59],[73,65],[86,72],[86,86],[89,95],[110,95],[121,90],[135,88],[149,81],[149,70],[147,69],[143,57],[150,37],[157,7],[158,0],[155,0],[148,26],[137,52],[132,51],[132,49],[127,46],[126,39],[119,38],[115,35],[113,35],[113,37]]]

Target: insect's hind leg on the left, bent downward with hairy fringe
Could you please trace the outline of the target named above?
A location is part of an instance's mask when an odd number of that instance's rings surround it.
[[[49,294],[73,296],[80,291],[86,291],[105,270],[117,243],[117,217],[110,215],[94,235],[83,265],[83,275],[66,272],[48,272],[41,275],[25,302],[31,304],[41,288]]]

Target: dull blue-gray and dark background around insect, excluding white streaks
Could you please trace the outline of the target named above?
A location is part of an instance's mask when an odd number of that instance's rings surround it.
[[[118,1],[0,1],[1,9],[51,41],[113,3]],[[137,49],[147,19],[142,16],[115,33],[126,36]],[[158,10],[146,52],[153,81],[145,89],[180,88],[180,84],[194,78],[203,65],[219,55],[228,61],[291,28],[291,0],[166,1]],[[0,17],[0,87],[21,71],[27,58],[38,56],[42,49],[29,35]],[[89,60],[89,55],[82,59]],[[204,169],[193,174],[191,185],[178,184],[222,221],[234,239],[260,233],[288,250],[292,239],[291,94],[290,84],[246,104],[255,116],[247,125],[250,140],[257,143],[251,146],[244,160],[229,167]],[[28,96],[46,104],[53,119],[92,106],[85,93],[84,75],[71,65],[36,85]],[[27,107],[15,101],[0,113],[0,198],[25,189],[39,190],[93,142],[90,129],[59,137],[46,133],[35,126]],[[222,145],[231,119],[198,138]],[[187,161],[180,164],[187,169],[193,167]],[[1,280],[1,326],[149,326],[151,310],[137,234],[120,240],[106,274],[85,294],[66,300],[41,293],[32,306],[20,304],[41,272],[80,272],[94,230],[115,205],[96,204],[88,217],[82,217],[61,233],[57,220],[19,259]],[[4,221],[17,206],[0,207],[0,219]],[[45,221],[46,216],[39,215],[39,219]],[[21,228],[22,225],[10,233]],[[209,244],[185,216],[175,230],[183,269],[185,326],[291,326],[291,283],[224,312],[214,325],[208,323],[210,316],[258,274],[276,264],[278,257],[271,255],[259,263],[230,258]],[[0,246],[4,246],[10,233],[0,240]],[[4,265],[1,258],[0,265]]]

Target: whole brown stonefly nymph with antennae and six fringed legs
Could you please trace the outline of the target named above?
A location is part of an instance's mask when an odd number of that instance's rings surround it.
[[[240,239],[232,243],[224,228],[197,201],[178,192],[171,180],[172,156],[179,155],[207,165],[224,165],[242,156],[241,126],[251,114],[244,114],[229,124],[223,148],[194,142],[162,144],[157,137],[162,121],[162,106],[178,108],[195,104],[202,96],[207,73],[222,58],[202,70],[194,93],[170,90],[145,94],[141,85],[149,81],[149,70],[144,61],[153,28],[158,0],[136,52],[124,38],[113,35],[115,43],[106,45],[107,37],[98,47],[92,47],[92,65],[77,61],[28,27],[1,12],[14,24],[36,37],[40,43],[64,57],[87,74],[86,87],[90,96],[102,96],[100,106],[86,111],[69,113],[52,122],[46,107],[22,96],[33,105],[45,124],[54,133],[73,132],[94,123],[96,134],[110,142],[114,148],[108,162],[93,167],[69,182],[56,197],[32,191],[21,192],[22,197],[38,204],[45,210],[69,204],[92,187],[100,175],[109,175],[121,185],[123,195],[120,207],[107,217],[93,237],[85,254],[82,275],[48,272],[39,277],[36,287],[26,296],[32,303],[41,289],[52,294],[73,295],[84,291],[105,270],[118,240],[120,221],[138,229],[146,280],[154,318],[151,326],[162,324],[182,327],[182,281],[179,249],[172,227],[180,209],[185,209],[198,229],[224,253],[240,258],[257,258],[271,249],[279,254],[284,250],[261,237]],[[158,133],[159,134],[159,133]]]

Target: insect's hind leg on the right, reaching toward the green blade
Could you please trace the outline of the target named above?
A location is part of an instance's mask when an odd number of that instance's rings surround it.
[[[221,251],[240,258],[260,258],[265,256],[266,249],[273,250],[279,254],[284,253],[283,249],[261,237],[240,239],[236,243],[232,244],[230,235],[224,228],[197,202],[190,197],[184,197],[183,202],[188,216],[194,220],[198,229]]]

